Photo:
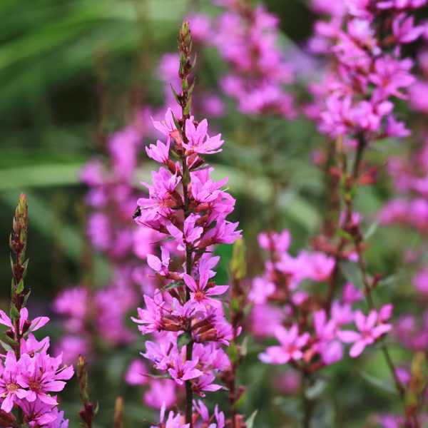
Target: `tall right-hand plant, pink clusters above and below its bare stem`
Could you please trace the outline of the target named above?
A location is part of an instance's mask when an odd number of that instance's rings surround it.
[[[417,427],[417,416],[407,403],[406,385],[399,378],[387,346],[382,341],[392,330],[388,322],[392,305],[378,307],[374,289],[379,275],[370,276],[362,231],[363,217],[355,211],[358,185],[370,185],[376,168],[367,166],[365,152],[384,138],[409,136],[404,122],[397,120],[394,98],[406,99],[414,82],[412,61],[402,56],[402,46],[416,40],[423,31],[410,12],[426,1],[314,1],[317,11],[330,15],[318,21],[317,36],[310,47],[329,58],[328,70],[319,85],[313,85],[315,104],[307,113],[320,131],[336,138],[330,146],[326,170],[330,175],[330,202],[334,225],[326,223],[324,233],[312,240],[315,253],[288,253],[290,235],[260,235],[260,245],[269,261],[262,277],[253,282],[250,297],[255,301],[256,325],[267,325],[260,334],[275,335],[279,345],[268,347],[260,359],[269,364],[288,364],[300,370],[303,379],[303,415],[310,426],[313,403],[305,394],[312,374],[343,357],[342,343],[350,343],[350,357],[358,357],[367,345],[379,342],[399,397],[406,427]],[[327,227],[328,226],[328,227]],[[344,281],[347,270],[357,271],[362,287]],[[355,277],[355,275],[354,275]],[[325,282],[320,295],[305,282]],[[303,282],[305,281],[305,282]],[[309,292],[308,292],[309,291]],[[367,302],[362,310],[360,300]],[[270,311],[265,302],[283,305]],[[284,305],[285,304],[285,305]],[[355,307],[357,306],[357,307]],[[261,318],[260,318],[261,317]],[[345,327],[354,322],[356,329]],[[267,331],[266,331],[267,330]]]

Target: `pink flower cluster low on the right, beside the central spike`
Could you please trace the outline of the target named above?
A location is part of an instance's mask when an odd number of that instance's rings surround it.
[[[354,308],[364,298],[362,292],[347,283],[340,300],[334,300],[328,310],[326,300],[308,285],[308,281],[328,282],[335,270],[335,258],[306,251],[292,257],[287,252],[287,230],[261,233],[259,244],[270,258],[263,275],[253,280],[249,295],[255,303],[253,330],[258,336],[275,335],[280,342],[260,354],[263,362],[313,372],[341,360],[343,342],[351,343],[350,356],[358,357],[367,345],[391,330],[387,320],[392,305],[365,316]],[[351,322],[357,331],[344,330]]]

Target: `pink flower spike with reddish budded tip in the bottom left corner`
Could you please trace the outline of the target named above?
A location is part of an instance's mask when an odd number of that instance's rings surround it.
[[[31,320],[26,308],[30,290],[24,287],[29,260],[26,243],[29,217],[26,195],[19,198],[10,237],[12,285],[10,317],[0,311],[2,335],[0,355],[0,424],[3,427],[66,428],[68,420],[58,410],[56,395],[73,376],[73,367],[62,364],[62,355],[49,355],[49,337],[36,340],[33,332],[46,325],[48,317]]]

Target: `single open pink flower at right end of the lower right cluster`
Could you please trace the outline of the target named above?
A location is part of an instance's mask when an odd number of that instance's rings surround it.
[[[378,314],[375,310],[370,311],[367,317],[360,310],[357,310],[355,312],[355,325],[358,332],[352,330],[337,332],[337,337],[342,342],[353,343],[350,349],[350,356],[352,358],[361,355],[365,347],[372,345],[379,337],[391,330],[392,326],[390,324],[377,323],[377,321]]]

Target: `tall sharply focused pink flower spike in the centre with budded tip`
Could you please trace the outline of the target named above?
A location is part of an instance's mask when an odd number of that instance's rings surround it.
[[[180,117],[168,108],[165,121],[153,122],[166,141],[157,141],[146,151],[163,166],[152,172],[151,184],[144,183],[149,197],[138,200],[135,217],[142,228],[157,230],[163,240],[173,241],[181,255],[178,260],[184,263],[176,263],[164,245],[160,255],[147,256],[162,285],[153,295],[144,295],[146,307],[138,309],[133,320],[143,335],[153,334],[154,341],[146,341],[143,356],[185,390],[185,415],[170,414],[168,421],[176,424],[166,426],[191,428],[198,419],[202,424],[210,421],[203,403],[193,402],[194,394],[204,397],[205,392],[220,389],[215,373],[230,365],[221,345],[228,345],[233,330],[218,298],[228,286],[213,280],[219,261],[212,255],[213,245],[235,242],[240,231],[238,223],[226,220],[235,204],[221,190],[227,178],[219,182],[210,178],[213,168],[204,158],[221,151],[223,140],[220,134],[208,135],[206,119],[196,121],[190,115],[195,81],[189,81],[194,60],[187,21],[180,28],[178,47],[181,88],[173,92]],[[215,416],[216,426],[223,427],[223,413],[216,410]],[[163,420],[158,426],[164,426]]]

